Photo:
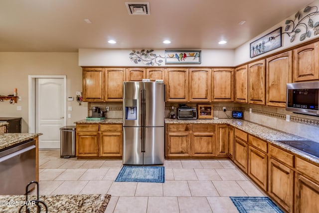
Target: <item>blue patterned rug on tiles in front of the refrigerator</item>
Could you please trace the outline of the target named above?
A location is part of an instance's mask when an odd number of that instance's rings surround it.
[[[164,167],[123,166],[115,182],[164,183]]]

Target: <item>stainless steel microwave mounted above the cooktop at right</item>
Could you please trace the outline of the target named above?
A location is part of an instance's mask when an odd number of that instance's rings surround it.
[[[286,110],[319,116],[319,81],[287,84]]]

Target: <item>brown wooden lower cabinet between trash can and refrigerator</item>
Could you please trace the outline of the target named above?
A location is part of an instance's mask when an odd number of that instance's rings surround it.
[[[77,124],[76,156],[122,157],[122,124]]]

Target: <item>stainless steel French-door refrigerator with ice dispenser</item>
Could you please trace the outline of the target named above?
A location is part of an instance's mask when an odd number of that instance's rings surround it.
[[[164,163],[164,84],[124,82],[123,164]]]

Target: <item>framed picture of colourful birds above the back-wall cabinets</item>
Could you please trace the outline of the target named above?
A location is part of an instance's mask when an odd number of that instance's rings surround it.
[[[201,50],[165,50],[165,64],[200,64]]]

